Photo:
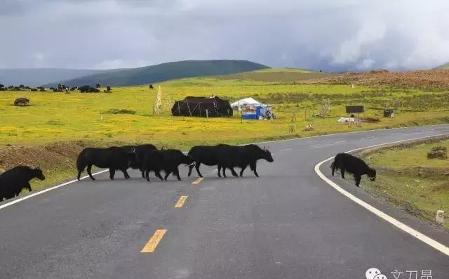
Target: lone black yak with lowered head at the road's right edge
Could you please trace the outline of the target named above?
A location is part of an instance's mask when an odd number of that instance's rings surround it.
[[[375,181],[376,179],[375,169],[368,167],[368,164],[360,158],[347,153],[337,154],[334,162],[330,164],[330,168],[332,169],[332,175],[334,175],[335,169],[340,169],[342,179],[344,179],[345,171],[349,172],[349,174],[353,174],[357,187],[360,187],[360,181],[363,174],[368,175],[370,181]]]

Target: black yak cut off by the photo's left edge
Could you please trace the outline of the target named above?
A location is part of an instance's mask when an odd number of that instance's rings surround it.
[[[32,188],[29,181],[34,178],[45,179],[39,167],[32,169],[27,166],[18,166],[0,174],[0,202],[3,199],[17,197],[23,188],[31,192]]]

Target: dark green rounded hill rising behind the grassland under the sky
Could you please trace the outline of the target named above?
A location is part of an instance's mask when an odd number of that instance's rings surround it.
[[[47,84],[47,86],[54,86],[59,83],[67,86],[94,85],[97,82],[109,86],[129,86],[152,84],[183,77],[236,74],[267,68],[269,67],[247,60],[186,60],[92,74],[86,77]]]

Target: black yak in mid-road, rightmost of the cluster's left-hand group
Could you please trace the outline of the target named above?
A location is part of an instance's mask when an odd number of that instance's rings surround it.
[[[164,171],[166,176],[163,178],[167,180],[167,177],[173,173],[177,177],[177,180],[181,180],[180,171],[178,169],[180,164],[192,164],[194,161],[184,155],[180,150],[167,149],[167,150],[152,150],[145,156],[143,163],[143,169],[145,170],[145,177],[149,181],[149,171],[154,171],[156,176],[161,178],[160,171]]]

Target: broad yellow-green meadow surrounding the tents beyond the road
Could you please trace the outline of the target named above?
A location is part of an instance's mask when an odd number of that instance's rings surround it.
[[[271,71],[268,74],[282,74]],[[262,71],[260,74],[267,73]],[[299,74],[303,74],[301,70]],[[446,110],[449,93],[444,91],[293,84],[272,82],[271,77],[257,80],[198,77],[154,85],[163,89],[164,103],[161,115],[155,116],[153,104],[157,90],[147,86],[113,87],[112,93],[0,92],[0,171],[15,164],[41,164],[48,171],[48,180],[38,184],[42,187],[74,176],[74,157],[85,145],[154,143],[187,150],[197,144],[248,143],[449,122]],[[241,123],[237,113],[234,117],[220,119],[173,117],[170,114],[168,104],[174,100],[211,95],[230,102],[251,96],[272,104],[277,118]],[[15,98],[20,97],[29,98],[31,105],[13,106]],[[330,103],[330,115],[312,117],[326,102]],[[365,105],[363,116],[379,117],[380,122],[362,126],[337,124],[338,117],[346,116],[345,105]],[[396,108],[396,116],[383,118],[385,107]],[[117,110],[132,113],[116,114]],[[314,130],[304,131],[306,124],[312,124]],[[58,146],[48,148],[55,142],[67,150],[61,152]],[[21,148],[28,148],[28,151],[23,152]]]

